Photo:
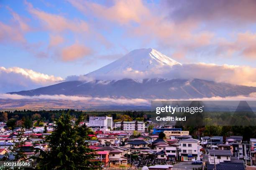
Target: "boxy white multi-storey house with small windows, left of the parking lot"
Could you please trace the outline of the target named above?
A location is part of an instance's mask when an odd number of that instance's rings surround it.
[[[200,160],[200,140],[189,138],[179,141],[179,144],[181,161]]]

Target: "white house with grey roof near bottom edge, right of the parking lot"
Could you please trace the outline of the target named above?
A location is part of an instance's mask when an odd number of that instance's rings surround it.
[[[232,153],[230,150],[208,150],[209,164],[219,164],[220,162],[230,161]]]

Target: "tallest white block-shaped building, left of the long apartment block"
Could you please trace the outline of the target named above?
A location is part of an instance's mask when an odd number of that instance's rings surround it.
[[[112,117],[108,116],[90,116],[89,118],[89,127],[93,130],[103,130],[106,131],[107,129],[113,128],[113,119]]]

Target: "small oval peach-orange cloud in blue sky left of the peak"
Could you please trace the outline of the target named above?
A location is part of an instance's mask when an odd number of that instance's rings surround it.
[[[87,56],[91,52],[92,51],[90,50],[90,48],[83,46],[81,44],[75,43],[61,50],[61,58],[63,61],[73,61],[78,58]]]

